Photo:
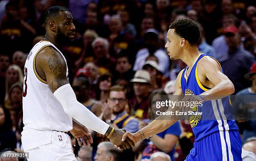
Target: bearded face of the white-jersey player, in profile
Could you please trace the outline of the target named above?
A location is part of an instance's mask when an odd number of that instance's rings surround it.
[[[57,20],[57,35],[56,38],[60,42],[73,41],[76,27],[73,24],[73,16],[69,11],[59,12]]]

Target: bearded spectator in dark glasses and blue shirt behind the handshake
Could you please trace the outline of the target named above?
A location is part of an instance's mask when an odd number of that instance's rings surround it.
[[[135,133],[138,131],[138,120],[125,111],[127,103],[124,87],[120,85],[111,87],[108,101],[102,108],[102,119],[114,128],[123,128]]]

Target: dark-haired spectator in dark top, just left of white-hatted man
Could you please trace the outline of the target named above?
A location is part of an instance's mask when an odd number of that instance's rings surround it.
[[[115,70],[114,80],[120,78],[130,80],[133,78],[135,73],[132,69],[131,63],[129,62],[128,56],[123,52],[117,56]]]

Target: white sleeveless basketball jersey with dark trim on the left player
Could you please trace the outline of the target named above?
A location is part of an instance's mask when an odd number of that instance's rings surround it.
[[[23,84],[24,131],[28,129],[72,130],[72,117],[64,112],[63,107],[54,97],[47,82],[40,78],[36,72],[36,55],[47,46],[52,46],[59,51],[51,42],[40,41],[33,47],[26,59]],[[61,51],[59,53],[66,61]],[[68,69],[66,75],[68,75]]]

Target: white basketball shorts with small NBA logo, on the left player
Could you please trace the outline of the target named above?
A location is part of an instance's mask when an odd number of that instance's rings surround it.
[[[28,161],[77,161],[69,135],[60,131],[52,131],[51,143],[26,152],[28,152]]]

